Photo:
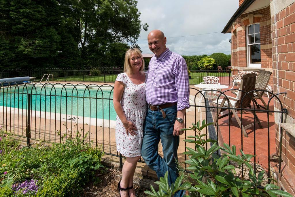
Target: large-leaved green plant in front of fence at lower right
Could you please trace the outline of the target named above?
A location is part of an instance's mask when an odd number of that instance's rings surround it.
[[[251,165],[251,154],[245,154],[241,149],[239,155],[236,154],[236,147],[230,147],[223,144],[224,147],[218,146],[213,139],[204,139],[206,134],[202,134],[202,129],[213,123],[206,124],[205,120],[192,124],[192,127],[183,129],[196,131],[196,136],[187,136],[184,141],[194,143],[196,149],[186,147],[188,151],[184,152],[189,156],[185,162],[189,165],[186,170],[190,171],[189,176],[191,182],[185,182],[182,185],[193,194],[193,196],[285,196],[291,197],[291,194],[281,191],[274,184],[266,184],[261,186],[265,180],[265,171],[254,172]],[[206,146],[211,143],[211,147],[207,150]],[[222,150],[224,153],[219,156],[217,153]],[[243,173],[240,173],[243,172]],[[245,176],[248,174],[248,177]],[[161,178],[159,191],[156,192],[151,186],[151,191],[145,193],[149,196],[173,196],[171,191],[178,191],[185,187],[179,186],[183,180],[183,174],[178,177],[176,182],[169,189],[168,182],[165,178]],[[275,181],[275,180],[273,180]],[[191,186],[190,186],[191,183]],[[189,187],[190,186],[190,187]]]

